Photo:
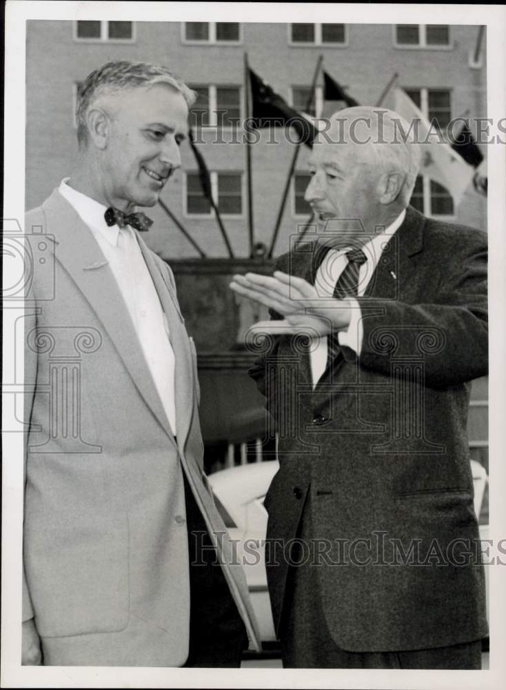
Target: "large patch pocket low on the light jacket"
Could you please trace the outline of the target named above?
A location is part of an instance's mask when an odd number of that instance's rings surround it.
[[[26,579],[42,637],[127,627],[128,542],[126,513],[26,515]]]

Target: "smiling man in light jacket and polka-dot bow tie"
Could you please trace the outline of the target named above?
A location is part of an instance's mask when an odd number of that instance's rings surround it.
[[[163,67],[92,72],[79,164],[26,217],[48,251],[26,318],[24,664],[236,667],[247,635],[259,649],[203,473],[194,344],[134,213],[181,166],[193,100]]]

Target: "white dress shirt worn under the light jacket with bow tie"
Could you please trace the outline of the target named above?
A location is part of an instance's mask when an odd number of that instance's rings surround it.
[[[59,193],[90,228],[108,261],[125,300],[170,428],[176,435],[175,359],[169,326],[135,230],[128,225],[123,228],[117,225],[109,227],[104,218],[107,207],[70,187],[68,179],[61,181]],[[104,299],[107,299],[106,295]]]

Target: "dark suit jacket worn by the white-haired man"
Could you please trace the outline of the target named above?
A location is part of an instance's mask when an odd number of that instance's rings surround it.
[[[468,382],[487,373],[486,252],[484,233],[409,207],[358,298],[361,354],[342,348],[313,391],[301,337],[280,335],[250,370],[279,432],[267,538],[296,535],[309,492],[312,535],[328,545],[319,595],[342,649],[486,634],[466,431]],[[277,267],[314,282],[322,258],[306,244]],[[287,564],[276,561],[279,629]]]

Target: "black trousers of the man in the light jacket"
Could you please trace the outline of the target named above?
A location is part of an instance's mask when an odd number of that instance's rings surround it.
[[[185,477],[190,560],[190,649],[186,668],[239,668],[247,649],[243,620]]]

